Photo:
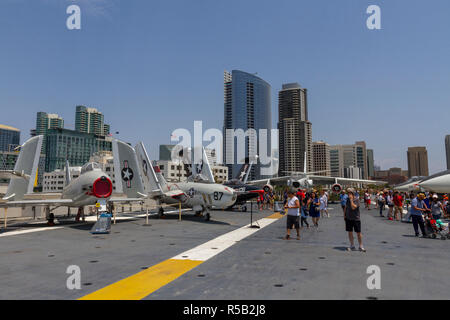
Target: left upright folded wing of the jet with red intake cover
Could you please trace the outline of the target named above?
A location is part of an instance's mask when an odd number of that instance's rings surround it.
[[[28,139],[22,145],[13,176],[3,199],[18,201],[22,200],[25,194],[33,193],[43,138],[42,135],[36,136]]]

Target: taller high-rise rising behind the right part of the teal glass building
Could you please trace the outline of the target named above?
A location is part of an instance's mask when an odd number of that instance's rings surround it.
[[[103,114],[95,108],[77,106],[75,112],[75,130],[83,133],[92,133],[97,136],[107,136],[109,125],[106,125]]]

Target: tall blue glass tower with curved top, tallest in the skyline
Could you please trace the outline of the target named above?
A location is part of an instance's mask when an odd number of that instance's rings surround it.
[[[259,156],[258,162],[252,166],[249,179],[265,178],[264,167],[260,162],[263,156],[259,147],[266,145],[265,157],[271,157],[271,100],[270,84],[254,74],[233,70],[224,73],[224,125],[223,125],[223,159],[227,164],[228,177],[234,177],[239,171],[246,157]],[[238,141],[229,132],[237,133],[241,129],[247,133],[245,150],[238,153]],[[267,130],[267,140],[261,140],[262,129]],[[227,134],[228,132],[228,134]],[[238,159],[240,157],[241,159]]]

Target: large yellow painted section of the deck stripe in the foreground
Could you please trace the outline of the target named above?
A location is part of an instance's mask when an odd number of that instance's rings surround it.
[[[203,261],[168,259],[79,300],[140,300],[201,263]]]

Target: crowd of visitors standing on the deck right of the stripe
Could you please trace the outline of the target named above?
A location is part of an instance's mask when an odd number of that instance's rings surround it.
[[[330,217],[328,200],[329,194],[326,190],[320,192],[316,190],[307,192],[293,188],[286,190],[284,192],[284,208],[287,213],[287,230],[284,239],[291,238],[290,230],[294,227],[297,232],[297,239],[300,240],[300,228],[310,227],[308,216],[311,217],[315,228],[319,226],[321,217]],[[347,250],[349,251],[357,250],[354,245],[355,232],[359,251],[366,252],[361,234],[361,202],[364,202],[365,209],[379,210],[379,215],[390,221],[411,220],[415,235],[419,236],[420,228],[423,237],[428,237],[425,227],[427,219],[442,223],[440,222],[441,218],[448,217],[450,214],[448,195],[438,196],[432,193],[414,194],[388,189],[375,192],[369,189],[348,188],[340,192],[339,201],[345,220],[345,230],[348,232],[350,246]],[[404,208],[408,212],[405,217]],[[385,210],[387,210],[386,216],[384,215]]]

